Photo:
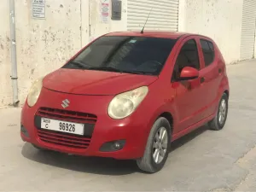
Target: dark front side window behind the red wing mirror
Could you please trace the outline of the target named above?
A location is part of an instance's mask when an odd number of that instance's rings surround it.
[[[200,70],[200,62],[195,39],[190,39],[183,44],[182,49],[180,49],[173,70],[172,80],[179,78],[183,67],[194,67]]]

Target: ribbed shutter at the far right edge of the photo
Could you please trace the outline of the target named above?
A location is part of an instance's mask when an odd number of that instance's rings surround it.
[[[256,1],[244,0],[242,5],[240,60],[253,58],[255,42],[255,19]]]

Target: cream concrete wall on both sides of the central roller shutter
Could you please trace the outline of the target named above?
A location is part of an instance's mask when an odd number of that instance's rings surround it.
[[[68,58],[106,32],[124,31],[122,20],[102,23],[102,0],[47,0],[46,18],[32,19],[32,0],[15,0],[19,98],[22,104],[34,79],[61,67]],[[107,2],[111,2],[107,0]],[[242,0],[180,0],[178,30],[213,38],[227,64],[239,60]],[[0,107],[12,103],[9,50],[9,0],[0,3]],[[255,49],[256,53],[256,49]]]

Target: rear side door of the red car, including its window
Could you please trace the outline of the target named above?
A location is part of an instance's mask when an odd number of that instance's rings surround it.
[[[200,44],[199,54],[203,58],[201,77],[204,82],[201,84],[201,89],[205,96],[205,106],[203,118],[207,118],[215,112],[218,105],[218,86],[221,81],[221,70],[218,66],[218,56],[216,56],[216,48],[209,38],[198,38]]]

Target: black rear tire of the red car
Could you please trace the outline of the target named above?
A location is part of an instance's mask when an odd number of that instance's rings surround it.
[[[223,112],[223,110],[224,110],[223,108],[221,108],[223,105],[223,102],[225,103],[225,113],[224,113],[224,115],[222,115],[222,118],[224,118],[224,119],[220,120],[220,115],[221,115],[220,112],[221,111]],[[223,127],[226,123],[226,120],[227,120],[228,110],[229,110],[229,97],[227,96],[227,94],[224,93],[218,103],[218,112],[216,113],[214,119],[212,119],[208,123],[211,130],[219,131],[219,130],[223,129]]]

